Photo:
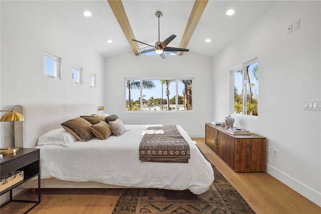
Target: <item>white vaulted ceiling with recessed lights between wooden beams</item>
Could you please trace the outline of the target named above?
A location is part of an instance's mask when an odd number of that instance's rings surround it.
[[[190,52],[215,56],[242,31],[269,10],[277,1],[215,1],[210,0],[187,46]],[[158,40],[158,21],[155,12],[161,11],[161,41],[175,34],[168,45],[179,47],[190,17],[194,1],[122,1],[130,26],[138,41],[154,45]],[[60,19],[85,43],[105,57],[132,52],[107,0],[101,1],[39,1],[47,10]],[[234,9],[234,16],[225,12]],[[84,10],[92,12],[86,18]],[[206,43],[205,39],[211,39]],[[107,44],[107,40],[113,43]],[[139,48],[146,46],[138,43]],[[188,53],[187,53],[188,54]]]

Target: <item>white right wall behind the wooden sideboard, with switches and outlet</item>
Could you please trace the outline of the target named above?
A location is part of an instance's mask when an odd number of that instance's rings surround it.
[[[222,120],[229,113],[229,70],[258,57],[259,116],[235,117],[235,126],[265,136],[266,154],[269,146],[278,152],[267,155],[267,172],[319,206],[321,112],[303,110],[303,100],[321,99],[320,14],[319,1],[280,1],[213,63],[213,120]],[[297,19],[300,29],[288,35]]]

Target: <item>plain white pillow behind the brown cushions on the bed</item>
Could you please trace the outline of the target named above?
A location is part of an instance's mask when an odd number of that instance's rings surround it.
[[[77,139],[64,128],[54,129],[38,138],[38,145],[63,145],[69,147]]]

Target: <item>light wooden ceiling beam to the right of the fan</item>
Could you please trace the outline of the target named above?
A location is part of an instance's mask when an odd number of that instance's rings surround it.
[[[192,35],[196,29],[197,24],[199,23],[202,14],[206,8],[208,0],[195,0],[189,21],[186,25],[185,32],[182,37],[180,48],[186,48],[189,44]],[[179,56],[182,56],[184,52],[180,52]]]

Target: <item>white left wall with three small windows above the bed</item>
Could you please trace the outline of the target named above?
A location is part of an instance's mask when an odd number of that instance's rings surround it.
[[[105,59],[39,2],[1,1],[1,110],[19,104],[105,102]],[[62,58],[62,80],[44,75],[45,51]],[[72,65],[83,67],[83,85]],[[97,74],[97,88],[89,87]],[[1,116],[4,113],[2,112]],[[1,147],[14,145],[13,123],[1,123]]]

